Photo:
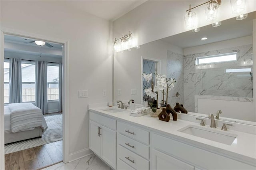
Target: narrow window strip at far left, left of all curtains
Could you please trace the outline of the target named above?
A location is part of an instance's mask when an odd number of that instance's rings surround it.
[[[10,63],[4,61],[4,104],[9,103],[9,68]]]

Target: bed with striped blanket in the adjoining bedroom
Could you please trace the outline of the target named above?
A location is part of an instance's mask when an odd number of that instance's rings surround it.
[[[33,117],[34,115],[37,117]],[[14,121],[17,117],[18,121]],[[46,129],[42,111],[32,103],[12,103],[4,106],[4,144],[40,137]]]

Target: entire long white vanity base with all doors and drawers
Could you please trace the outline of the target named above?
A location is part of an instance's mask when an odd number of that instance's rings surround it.
[[[113,169],[256,170],[253,160],[236,152],[158,130],[164,124],[158,119],[150,117],[145,126],[140,124],[146,122],[143,117],[135,123],[134,117],[124,116],[128,113],[105,116],[95,112],[90,111],[90,149]]]

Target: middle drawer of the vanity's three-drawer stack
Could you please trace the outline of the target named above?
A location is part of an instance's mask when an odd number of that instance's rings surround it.
[[[149,146],[146,146],[145,144],[137,142],[119,133],[117,136],[117,143],[129,150],[132,150],[136,154],[139,154],[140,156],[149,159]]]

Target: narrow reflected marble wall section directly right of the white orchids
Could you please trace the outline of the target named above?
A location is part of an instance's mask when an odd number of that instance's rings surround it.
[[[184,71],[183,71],[183,55],[167,51],[167,77],[175,78],[176,83],[174,89],[168,92],[168,103],[174,107],[176,103],[184,103]],[[176,97],[176,93],[179,93]]]

